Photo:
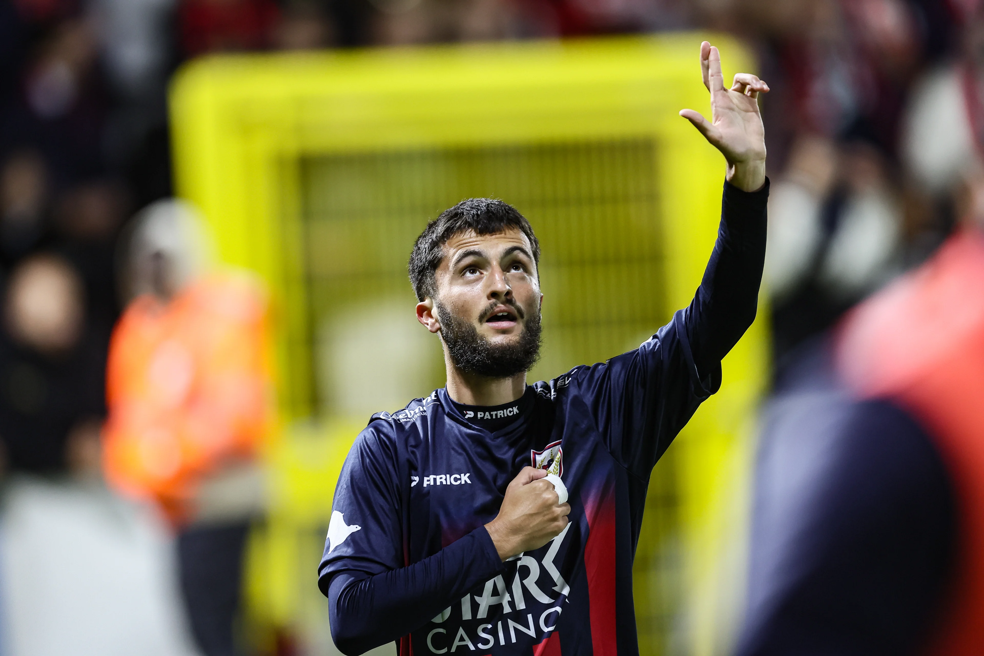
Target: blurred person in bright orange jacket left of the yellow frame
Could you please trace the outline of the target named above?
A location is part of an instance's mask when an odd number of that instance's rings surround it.
[[[170,519],[193,632],[207,656],[225,656],[247,529],[264,505],[268,302],[246,274],[204,271],[197,226],[190,208],[163,201],[132,228],[133,299],[110,343],[103,465],[117,489]]]

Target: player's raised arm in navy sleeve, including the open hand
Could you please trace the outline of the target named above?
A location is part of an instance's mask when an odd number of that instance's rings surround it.
[[[589,399],[605,446],[640,481],[648,480],[656,460],[720,385],[721,358],[755,320],[766,260],[769,181],[756,96],[769,88],[742,74],[724,89],[717,49],[707,41],[701,64],[713,118],[689,109],[680,113],[728,162],[720,229],[704,280],[690,307],[639,348],[576,368],[564,379]],[[645,496],[646,487],[638,491]]]

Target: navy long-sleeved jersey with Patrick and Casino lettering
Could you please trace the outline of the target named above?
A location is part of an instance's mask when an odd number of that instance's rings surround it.
[[[465,416],[482,409],[444,388],[374,415],[338,479],[319,569],[343,652],[399,639],[400,656],[638,653],[649,475],[755,317],[767,197],[725,186],[694,302],[638,349],[528,386],[492,416]],[[562,477],[570,523],[502,563],[484,524],[527,465]]]

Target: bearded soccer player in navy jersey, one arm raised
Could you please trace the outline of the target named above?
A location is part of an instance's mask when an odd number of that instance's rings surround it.
[[[707,41],[701,65],[712,120],[680,114],[727,160],[720,229],[690,307],[639,348],[527,386],[543,298],[529,223],[470,199],[417,238],[417,319],[440,336],[447,387],[373,415],[345,460],[319,567],[343,653],[638,653],[649,474],[755,319],[766,250],[769,87],[739,74],[726,89]]]

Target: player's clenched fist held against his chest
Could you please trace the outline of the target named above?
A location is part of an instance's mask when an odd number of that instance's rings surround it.
[[[558,504],[553,484],[543,480],[546,475],[542,469],[523,467],[506,488],[499,514],[485,524],[503,561],[539,549],[567,526],[571,505]]]

